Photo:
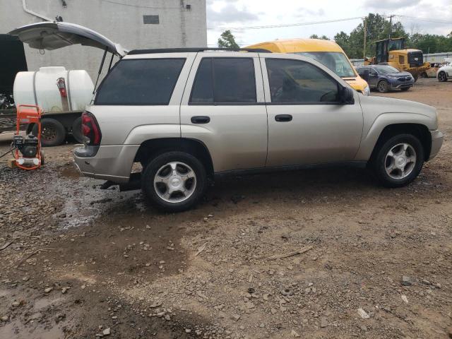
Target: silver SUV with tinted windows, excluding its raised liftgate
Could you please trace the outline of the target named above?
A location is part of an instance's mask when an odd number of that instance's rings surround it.
[[[383,186],[405,186],[443,141],[434,107],[368,97],[314,59],[259,50],[133,50],[82,120],[80,172],[124,187],[138,179],[170,211],[237,171],[368,165]]]

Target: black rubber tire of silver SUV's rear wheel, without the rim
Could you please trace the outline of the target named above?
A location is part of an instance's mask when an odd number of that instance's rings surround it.
[[[168,202],[162,199],[154,186],[154,178],[157,172],[169,162],[182,162],[194,171],[196,175],[196,186],[194,191],[181,202]],[[207,187],[207,175],[206,168],[203,164],[193,155],[183,152],[167,152],[155,157],[152,161],[146,165],[141,177],[141,189],[145,196],[153,203],[153,205],[160,210],[166,212],[182,212],[188,210],[196,205],[202,198]]]

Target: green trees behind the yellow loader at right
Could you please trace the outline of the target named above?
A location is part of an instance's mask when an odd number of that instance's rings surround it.
[[[390,23],[388,19],[379,14],[369,13],[364,18],[366,22],[366,57],[373,57],[375,52],[371,45],[378,41],[387,39],[391,32],[391,37],[405,37],[405,47],[421,49],[422,52],[439,53],[452,51],[452,32],[447,37],[444,35],[419,34],[409,35],[400,22]],[[334,41],[342,47],[351,59],[362,59],[364,47],[364,22],[359,23],[357,27],[347,35],[345,32],[339,32],[334,36]]]

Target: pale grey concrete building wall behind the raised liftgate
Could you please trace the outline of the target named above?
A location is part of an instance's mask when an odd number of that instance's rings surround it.
[[[66,2],[66,8],[63,6]],[[205,47],[206,0],[26,0],[27,7],[54,20],[86,26],[126,49]],[[186,5],[191,8],[187,9]],[[0,32],[6,33],[42,19],[25,13],[22,0],[0,0]],[[143,16],[158,15],[159,24],[144,24]],[[81,45],[45,51],[25,45],[28,69],[65,66],[85,69],[95,81],[103,51]]]

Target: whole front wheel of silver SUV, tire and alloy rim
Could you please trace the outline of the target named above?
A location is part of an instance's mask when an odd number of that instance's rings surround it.
[[[377,179],[386,187],[410,184],[424,165],[424,148],[412,134],[388,138],[379,147],[371,167]]]

